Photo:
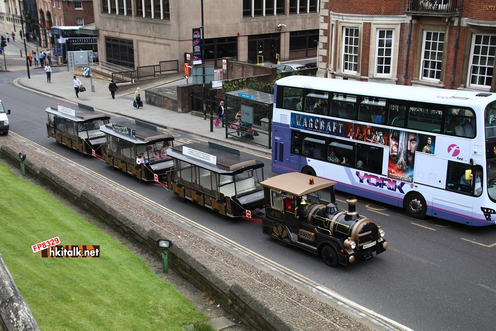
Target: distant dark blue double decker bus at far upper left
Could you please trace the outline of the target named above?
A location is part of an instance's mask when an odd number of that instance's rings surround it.
[[[97,37],[81,33],[79,26],[52,26],[50,28],[54,58],[67,62],[67,52],[93,51],[93,62],[98,62]]]

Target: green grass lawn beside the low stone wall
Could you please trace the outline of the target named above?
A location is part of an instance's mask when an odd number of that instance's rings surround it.
[[[41,330],[213,330],[112,237],[0,164],[0,253]],[[100,245],[100,258],[40,258],[31,245]]]

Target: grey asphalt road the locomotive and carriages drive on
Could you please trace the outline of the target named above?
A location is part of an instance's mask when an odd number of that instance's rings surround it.
[[[141,183],[96,158],[61,147],[47,137],[44,110],[59,102],[65,107],[75,105],[16,86],[14,79],[26,75],[26,68],[19,61],[17,71],[0,72],[0,99],[12,110],[9,119],[13,133],[121,184],[129,192],[180,213],[207,228],[209,233],[228,238],[239,245],[236,248],[247,252],[248,257],[258,254],[268,259],[269,265],[270,261],[281,265],[289,278],[331,291],[345,303],[350,300],[351,305],[354,302],[396,321],[399,327],[395,329],[401,329],[401,325],[406,329],[433,331],[494,329],[496,228],[469,228],[434,218],[415,220],[402,209],[360,200],[357,210],[386,231],[389,247],[373,259],[349,267],[330,268],[317,256],[278,245],[262,235],[257,223],[222,218],[196,204],[183,202],[160,186]],[[14,63],[12,67],[16,68]],[[63,69],[54,68],[54,74]],[[45,73],[33,69],[31,74]],[[205,142],[184,133],[171,133],[176,135],[177,143]],[[265,177],[273,176],[270,160],[263,161]],[[338,193],[337,198],[339,206],[346,208],[346,196]]]

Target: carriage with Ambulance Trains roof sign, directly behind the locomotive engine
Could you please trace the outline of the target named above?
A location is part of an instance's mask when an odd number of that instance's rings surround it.
[[[171,148],[174,158],[167,184],[174,194],[227,217],[245,217],[263,206],[263,163],[214,143]]]

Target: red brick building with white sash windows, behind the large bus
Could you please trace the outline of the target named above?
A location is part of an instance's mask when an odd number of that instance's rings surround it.
[[[495,91],[496,5],[321,0],[319,76]]]

